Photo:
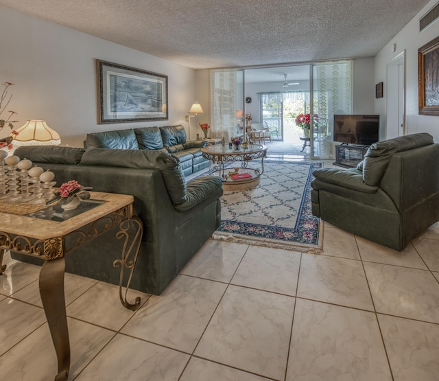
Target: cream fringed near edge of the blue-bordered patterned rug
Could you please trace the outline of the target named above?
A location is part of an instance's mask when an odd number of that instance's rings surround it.
[[[319,229],[319,233],[321,234],[320,229]],[[249,245],[254,245],[254,246],[270,247],[271,249],[300,251],[301,253],[320,254],[323,251],[322,246],[320,246],[320,245],[316,246],[316,245],[310,245],[310,244],[298,244],[297,242],[282,243],[282,242],[279,242],[278,240],[267,240],[265,238],[258,238],[258,237],[249,238],[246,235],[233,235],[233,234],[224,233],[221,231],[215,231],[212,234],[211,238],[213,240],[235,242],[238,244],[249,244]],[[322,242],[321,236],[319,237],[318,242]]]

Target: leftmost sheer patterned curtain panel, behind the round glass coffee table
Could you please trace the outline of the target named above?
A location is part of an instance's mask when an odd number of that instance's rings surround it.
[[[237,70],[211,71],[211,137],[237,135]]]

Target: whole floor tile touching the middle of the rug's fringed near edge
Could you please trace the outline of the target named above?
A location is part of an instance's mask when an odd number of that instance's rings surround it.
[[[296,296],[300,253],[250,246],[232,284]]]

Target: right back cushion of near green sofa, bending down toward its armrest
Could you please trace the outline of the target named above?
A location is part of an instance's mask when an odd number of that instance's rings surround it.
[[[160,170],[172,203],[179,205],[186,201],[185,175],[178,159],[159,150],[90,148],[82,155],[80,165]]]

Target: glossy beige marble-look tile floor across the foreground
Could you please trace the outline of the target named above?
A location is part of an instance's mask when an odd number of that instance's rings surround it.
[[[439,224],[405,251],[324,226],[320,255],[209,240],[160,297],[66,275],[69,380],[439,380]],[[0,276],[0,378],[53,380],[38,267]]]

